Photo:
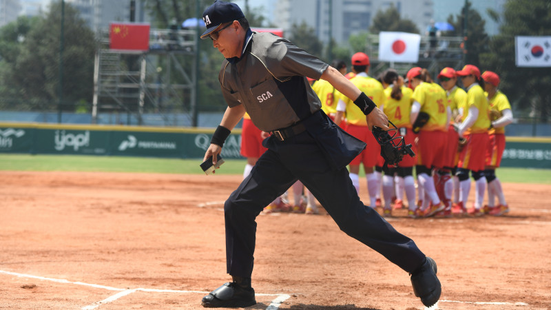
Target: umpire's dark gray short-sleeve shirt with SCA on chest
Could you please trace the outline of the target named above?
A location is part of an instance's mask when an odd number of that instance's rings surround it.
[[[224,61],[220,85],[229,107],[239,104],[260,130],[289,127],[320,110],[305,76],[320,79],[328,65],[270,33],[251,33],[238,61]]]

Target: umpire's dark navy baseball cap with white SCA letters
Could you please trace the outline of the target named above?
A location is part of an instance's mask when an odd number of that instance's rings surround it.
[[[201,34],[201,39],[207,38],[211,32],[216,31],[223,23],[236,21],[242,17],[245,17],[245,14],[236,3],[216,0],[205,12],[202,12],[202,20],[205,21],[207,30]]]

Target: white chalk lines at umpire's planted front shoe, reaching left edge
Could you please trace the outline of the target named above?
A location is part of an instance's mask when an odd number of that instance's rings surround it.
[[[107,287],[105,285],[94,285],[90,283],[85,282],[72,282],[65,279],[56,279],[56,278],[45,278],[41,276],[33,276],[32,274],[26,274],[26,273],[17,273],[12,271],[3,271],[0,270],[0,273],[9,274],[10,276],[17,276],[19,278],[32,278],[32,279],[39,279],[39,280],[45,280],[45,281],[51,281],[51,282],[57,282],[57,283],[65,283],[65,284],[72,284],[72,285],[83,285],[86,287],[94,287],[96,289],[107,289],[109,291],[119,291],[118,293],[114,294],[113,296],[110,296],[108,298],[105,298],[104,300],[100,300],[98,302],[94,302],[93,304],[87,305],[85,307],[82,307],[82,310],[93,310],[98,307],[100,307],[102,304],[108,304],[110,302],[114,302],[118,298],[127,296],[131,293],[136,293],[136,291],[145,291],[145,292],[152,292],[152,293],[202,293],[207,294],[208,291],[180,291],[177,289],[119,289],[117,287]],[[271,301],[269,306],[266,308],[266,310],[278,310],[280,305],[287,299],[291,298],[290,295],[287,294],[263,294],[263,293],[257,293],[256,296],[277,296],[274,300]]]

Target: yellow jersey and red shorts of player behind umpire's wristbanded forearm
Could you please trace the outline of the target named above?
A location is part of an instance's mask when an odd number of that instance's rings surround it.
[[[362,92],[364,92],[379,107],[384,103],[383,85],[370,76],[356,75],[350,79]],[[340,94],[340,99],[346,103],[346,132],[364,141],[366,149],[351,161],[350,165],[364,164],[364,167],[374,167],[381,156],[381,146],[367,127],[366,116],[354,102]]]

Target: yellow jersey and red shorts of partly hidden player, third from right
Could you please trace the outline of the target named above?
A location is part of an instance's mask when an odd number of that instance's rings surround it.
[[[459,107],[465,107],[467,103],[467,93],[457,86],[453,87],[449,94],[447,94],[448,105],[452,111],[459,110]],[[444,155],[444,167],[453,168],[457,166],[459,161],[459,154],[457,153],[457,141],[459,141],[459,134],[453,128],[454,120],[450,119],[450,125],[448,127],[448,142],[446,143],[446,153]]]

